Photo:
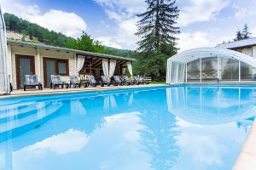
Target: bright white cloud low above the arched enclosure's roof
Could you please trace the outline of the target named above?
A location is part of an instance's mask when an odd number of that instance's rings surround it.
[[[190,48],[213,47],[216,43],[209,40],[207,32],[196,31],[194,33],[183,32],[178,36],[177,48],[184,51]]]

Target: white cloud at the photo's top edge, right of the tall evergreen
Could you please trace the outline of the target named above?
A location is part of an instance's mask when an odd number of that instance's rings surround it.
[[[189,0],[189,3],[180,9],[178,26],[212,20],[228,4],[229,0]]]

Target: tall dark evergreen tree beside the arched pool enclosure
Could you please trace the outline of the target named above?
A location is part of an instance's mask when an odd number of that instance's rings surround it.
[[[175,48],[180,32],[175,26],[179,10],[176,0],[145,0],[148,8],[137,22],[138,62],[135,64],[137,74],[152,77],[154,81],[164,81],[166,61],[177,53]]]

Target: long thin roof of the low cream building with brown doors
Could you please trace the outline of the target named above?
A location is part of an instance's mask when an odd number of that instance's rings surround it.
[[[137,59],[132,59],[132,58],[126,58],[126,57],[120,57],[116,55],[109,55],[109,54],[98,54],[98,53],[93,53],[89,51],[82,51],[78,49],[72,49],[72,48],[61,48],[61,47],[55,47],[55,46],[50,46],[50,45],[44,45],[44,44],[39,44],[39,43],[32,43],[32,42],[22,42],[22,41],[17,41],[17,40],[7,40],[8,44],[12,45],[19,45],[19,46],[24,46],[24,47],[30,47],[30,48],[42,48],[42,49],[51,49],[51,50],[56,50],[56,51],[64,51],[68,53],[76,53],[76,54],[84,54],[84,55],[90,55],[94,57],[100,57],[100,58],[107,58],[107,59],[120,59],[120,60],[126,60],[126,61],[136,61]]]

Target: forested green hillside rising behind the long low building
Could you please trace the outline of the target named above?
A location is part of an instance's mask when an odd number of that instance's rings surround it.
[[[22,20],[19,17],[15,16],[14,14],[5,13],[4,20],[8,31],[8,38],[10,39],[21,40],[26,42],[44,43],[47,45],[58,46],[63,48],[67,48],[67,42],[76,41],[76,39],[73,37],[67,37],[66,35],[60,32],[49,31],[49,29],[47,28],[38,26],[37,24],[31,23],[27,20]],[[91,42],[94,43],[95,41],[91,39]],[[90,51],[89,48],[83,48],[82,50]],[[135,55],[135,52],[131,50],[123,50],[110,47],[105,47],[105,50],[103,50],[103,52],[100,51],[99,53],[113,54],[124,57],[134,57]]]

